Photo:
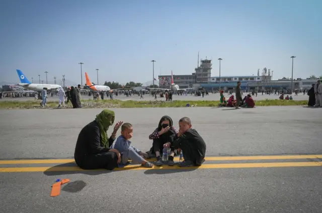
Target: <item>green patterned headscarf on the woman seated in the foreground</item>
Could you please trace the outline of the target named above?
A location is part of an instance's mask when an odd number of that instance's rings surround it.
[[[115,119],[115,113],[112,110],[104,109],[96,116],[96,122],[99,124],[101,130],[102,143],[105,148],[108,148],[107,130],[112,126]]]

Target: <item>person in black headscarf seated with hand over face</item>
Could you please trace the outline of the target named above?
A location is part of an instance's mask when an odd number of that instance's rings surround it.
[[[175,156],[175,148],[173,147],[173,141],[175,140],[178,131],[173,126],[173,121],[169,116],[163,116],[157,128],[149,135],[149,139],[153,140],[152,148],[150,149],[151,153],[155,153],[157,159],[155,165],[160,166],[163,164],[162,158],[160,157],[160,151],[164,147],[170,147],[171,153],[168,160],[168,165],[174,165],[173,158]]]

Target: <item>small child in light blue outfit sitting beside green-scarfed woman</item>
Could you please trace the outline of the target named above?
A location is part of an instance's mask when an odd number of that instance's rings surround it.
[[[146,153],[141,152],[134,146],[131,146],[131,139],[133,137],[133,126],[130,123],[124,123],[121,127],[121,135],[117,138],[111,148],[117,149],[121,153],[121,164],[125,165],[128,160],[132,160],[133,163],[141,163],[142,166],[151,168],[153,165],[146,161],[148,157]]]

